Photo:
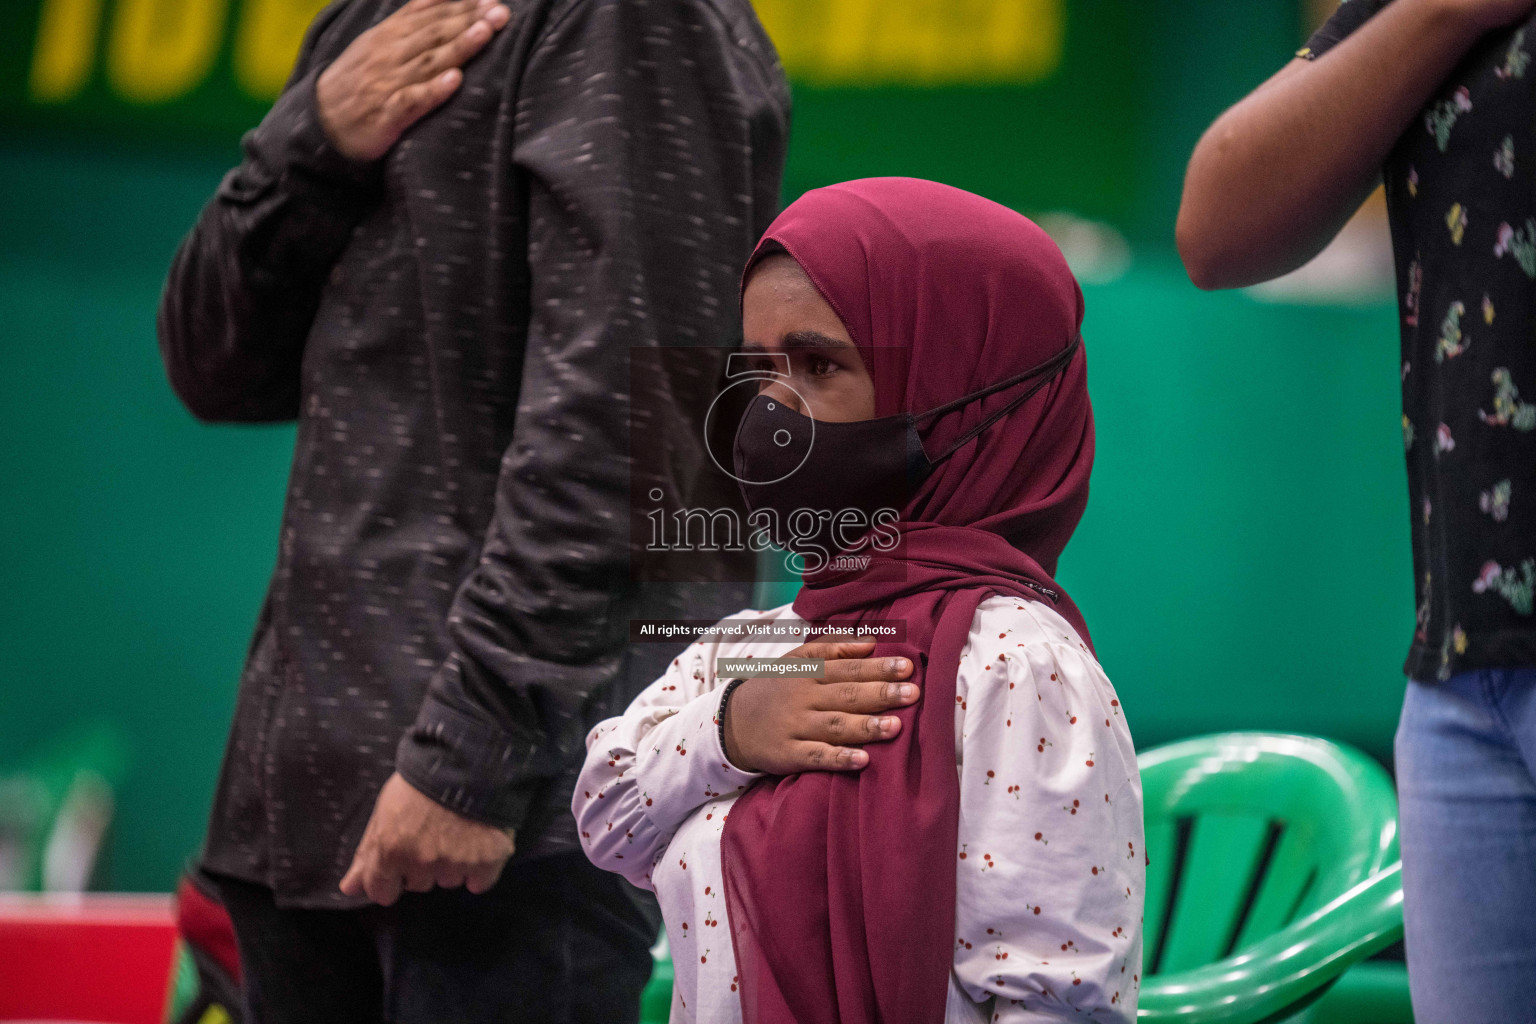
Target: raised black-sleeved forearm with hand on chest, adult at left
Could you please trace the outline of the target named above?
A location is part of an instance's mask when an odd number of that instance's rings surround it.
[[[332,264],[378,201],[379,157],[507,23],[493,2],[412,0],[324,68],[316,41],[361,8],[332,3],[315,18],[287,88],[166,278],[160,352],[198,419],[298,415],[304,341]]]

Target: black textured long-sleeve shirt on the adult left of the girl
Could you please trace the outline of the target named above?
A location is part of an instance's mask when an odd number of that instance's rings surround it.
[[[358,164],[315,78],[402,2],[316,18],[160,312],[197,416],[298,421],[204,851],[289,906],[352,903],[395,769],[519,857],[574,849],[587,725],[673,654],[630,617],[745,603],[633,580],[627,453],[631,352],[733,344],[777,210],[788,88],[748,0],[511,0],[458,94]]]

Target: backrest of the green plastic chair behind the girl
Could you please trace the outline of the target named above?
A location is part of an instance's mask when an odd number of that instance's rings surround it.
[[[1147,975],[1230,956],[1398,858],[1392,780],[1336,743],[1224,732],[1140,768]]]

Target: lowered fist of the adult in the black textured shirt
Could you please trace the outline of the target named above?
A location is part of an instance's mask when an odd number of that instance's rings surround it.
[[[496,884],[515,849],[511,829],[455,814],[396,772],[379,791],[341,892],[382,906],[401,890],[436,886],[481,894]]]

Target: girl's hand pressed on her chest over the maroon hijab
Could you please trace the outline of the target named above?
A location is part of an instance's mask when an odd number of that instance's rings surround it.
[[[900,680],[905,657],[869,657],[874,642],[802,645],[783,657],[825,659],[822,679],[748,679],[725,705],[725,757],[742,771],[793,775],[859,771],[865,743],[889,740],[902,723],[885,711],[917,702]]]

